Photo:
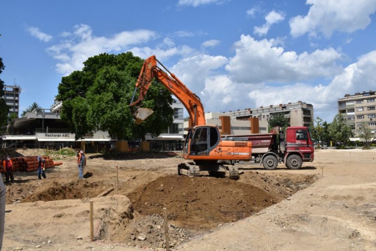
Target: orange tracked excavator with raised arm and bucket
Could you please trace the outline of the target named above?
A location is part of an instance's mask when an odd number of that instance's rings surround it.
[[[189,114],[191,127],[183,150],[183,157],[187,161],[178,165],[178,174],[200,176],[200,171],[208,171],[210,176],[228,176],[237,179],[239,172],[235,161],[247,161],[252,158],[252,143],[246,138],[223,139],[217,126],[206,125],[204,107],[200,98],[170,73],[154,55],[148,57],[142,65],[130,104],[135,111],[136,123],[142,123],[152,114],[152,110],[142,108],[141,103],[154,77],[184,104]],[[140,89],[139,96],[133,101],[138,89]]]

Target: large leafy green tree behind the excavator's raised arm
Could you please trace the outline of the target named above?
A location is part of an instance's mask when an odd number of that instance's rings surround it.
[[[142,102],[154,113],[141,125],[133,122],[129,103],[142,63],[132,52],[103,53],[88,58],[82,71],[62,78],[56,98],[63,101],[61,118],[76,138],[102,130],[118,139],[143,139],[146,132],[157,136],[168,128],[172,97],[156,80]]]

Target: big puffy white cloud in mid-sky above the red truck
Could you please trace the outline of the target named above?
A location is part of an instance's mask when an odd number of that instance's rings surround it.
[[[273,39],[257,41],[251,36],[241,35],[240,41],[234,45],[236,54],[230,58],[226,70],[236,82],[260,83],[331,77],[342,69],[336,64],[341,53],[333,48],[298,54],[275,47],[274,43]]]

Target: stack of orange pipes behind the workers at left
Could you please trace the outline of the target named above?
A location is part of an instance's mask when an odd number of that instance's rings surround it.
[[[45,161],[45,168],[62,165],[63,162],[54,162],[49,156],[42,156]],[[13,162],[13,171],[33,172],[38,170],[38,156],[22,156],[11,158]]]

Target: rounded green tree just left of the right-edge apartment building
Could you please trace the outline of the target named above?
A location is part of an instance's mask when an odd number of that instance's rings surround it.
[[[330,138],[334,143],[339,143],[339,146],[348,142],[352,136],[350,126],[346,124],[346,118],[340,113],[334,116],[333,122],[329,124],[328,129]]]

